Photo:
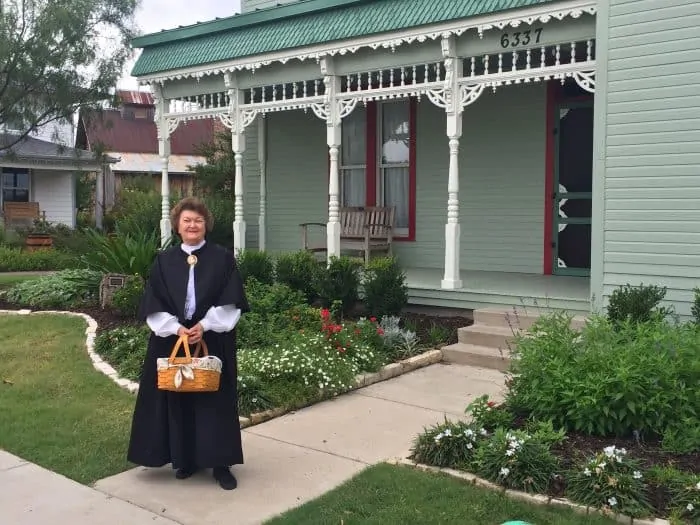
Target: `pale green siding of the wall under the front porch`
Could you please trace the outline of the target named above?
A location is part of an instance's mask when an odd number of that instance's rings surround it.
[[[489,91],[465,110],[460,149],[465,270],[542,273],[545,106],[545,85],[533,84]],[[298,250],[299,224],[327,221],[326,128],[311,112],[267,118],[268,250]],[[406,265],[441,269],[449,161],[445,112],[423,99],[416,121],[416,240],[396,242],[395,253]]]

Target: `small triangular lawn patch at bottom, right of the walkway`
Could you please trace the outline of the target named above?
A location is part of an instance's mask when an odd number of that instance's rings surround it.
[[[267,525],[611,525],[602,516],[531,505],[444,474],[379,464],[335,490],[274,518]]]

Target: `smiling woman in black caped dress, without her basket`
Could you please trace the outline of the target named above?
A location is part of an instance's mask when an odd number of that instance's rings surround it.
[[[141,301],[139,317],[152,333],[127,459],[146,467],[172,463],[178,479],[212,468],[219,485],[232,490],[237,481],[230,466],[243,463],[234,328],[250,308],[233,253],[205,240],[213,218],[204,203],[183,199],[170,219],[182,244],[158,254]],[[193,352],[204,339],[209,354],[222,360],[217,392],[157,389],[156,359],[168,357],[183,335]]]

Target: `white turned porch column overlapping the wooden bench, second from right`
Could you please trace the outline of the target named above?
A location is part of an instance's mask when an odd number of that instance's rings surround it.
[[[321,60],[321,71],[326,86],[326,142],[328,143],[328,225],[326,227],[326,250],[328,264],[331,257],[340,257],[340,170],[339,153],[341,143],[341,107],[336,97],[340,93],[340,77],[335,75],[332,59]]]

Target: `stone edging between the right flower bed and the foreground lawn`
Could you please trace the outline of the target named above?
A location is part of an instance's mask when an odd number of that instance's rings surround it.
[[[406,459],[405,457],[402,458],[396,458],[392,463],[396,465],[404,465],[407,467],[412,467],[417,470],[422,470],[424,472],[437,472],[441,474],[446,474],[448,476],[451,476],[453,478],[461,479],[463,481],[468,481],[469,483],[490,489],[490,490],[496,490],[498,492],[502,492],[506,496],[513,498],[513,499],[519,499],[522,501],[525,501],[527,503],[535,503],[537,505],[560,505],[562,507],[569,507],[570,509],[574,510],[575,512],[579,514],[591,514],[591,513],[596,513],[600,514],[602,516],[612,518],[618,523],[625,523],[625,524],[634,524],[634,525],[671,525],[671,522],[662,518],[652,518],[652,519],[637,519],[637,518],[632,518],[630,516],[624,516],[622,514],[611,514],[609,512],[604,512],[600,509],[596,509],[593,507],[586,507],[585,505],[579,505],[578,503],[574,503],[573,501],[569,501],[566,498],[554,498],[550,496],[544,496],[542,494],[528,494],[527,492],[521,492],[519,490],[512,490],[512,489],[506,489],[504,487],[501,487],[499,485],[496,485],[495,483],[492,483],[490,481],[487,481],[485,479],[480,478],[479,476],[476,476],[474,474],[470,474],[469,472],[462,472],[460,470],[455,470],[451,468],[442,468],[442,467],[434,467],[432,465],[425,465],[423,463],[416,463],[415,461],[411,461],[410,459]]]

